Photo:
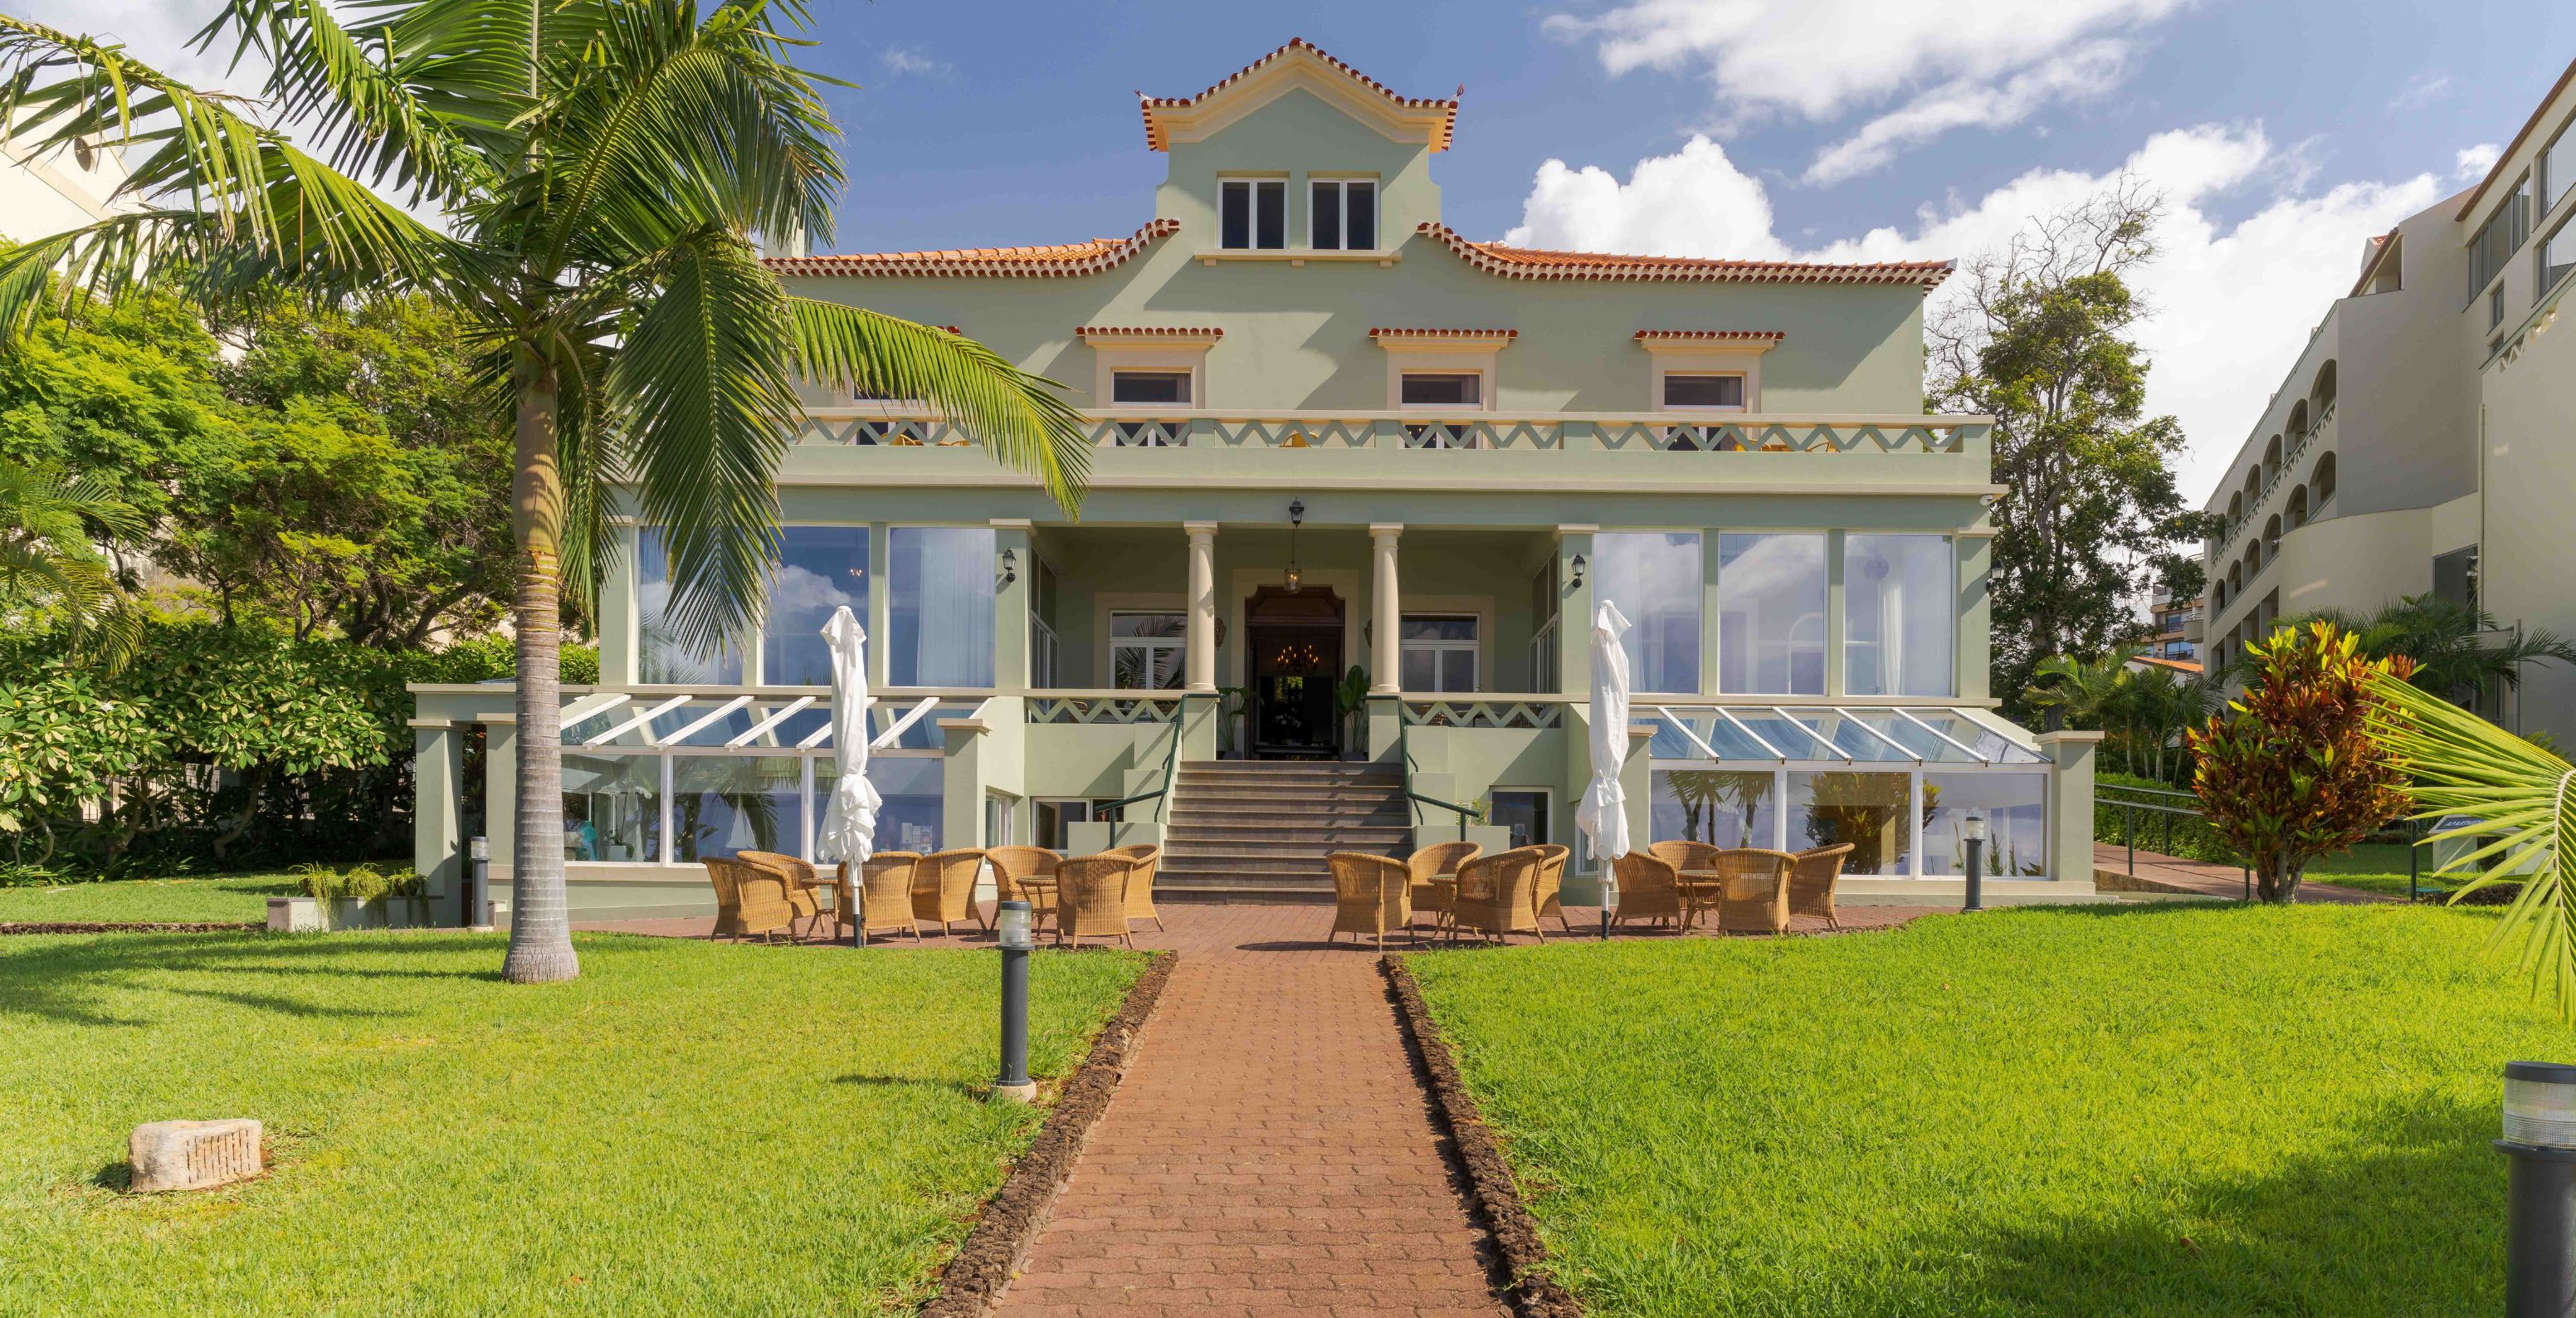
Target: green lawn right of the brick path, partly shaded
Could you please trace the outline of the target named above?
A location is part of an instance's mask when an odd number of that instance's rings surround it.
[[[2117,906],[1409,958],[1600,1315],[2501,1310],[2491,914]]]

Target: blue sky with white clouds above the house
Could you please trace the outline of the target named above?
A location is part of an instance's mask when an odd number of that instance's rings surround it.
[[[183,0],[21,0],[222,80]],[[824,250],[1069,242],[1151,216],[1136,93],[1303,36],[1401,95],[1468,237],[1958,257],[2123,170],[2166,201],[2148,407],[2221,479],[2362,245],[2473,185],[2576,59],[2563,0],[814,0],[850,196]],[[234,75],[240,77],[240,75]],[[1960,283],[1960,281],[1953,281]],[[1940,296],[1940,293],[1935,293]]]

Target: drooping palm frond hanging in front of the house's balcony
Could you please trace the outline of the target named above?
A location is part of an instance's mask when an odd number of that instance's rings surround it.
[[[920,399],[971,430],[994,461],[1036,476],[1066,515],[1079,515],[1092,448],[1056,381],[945,330],[837,301],[788,301],[801,378],[881,399]]]

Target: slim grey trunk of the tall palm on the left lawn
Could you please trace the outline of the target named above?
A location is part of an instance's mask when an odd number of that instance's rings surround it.
[[[528,353],[518,378],[518,811],[510,831],[510,983],[582,973],[564,914],[562,579],[564,471],[554,366]]]

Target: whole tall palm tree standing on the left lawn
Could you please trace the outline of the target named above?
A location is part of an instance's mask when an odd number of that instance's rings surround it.
[[[580,970],[556,628],[562,589],[595,582],[611,510],[662,528],[672,631],[714,651],[757,615],[778,556],[799,386],[925,399],[1066,510],[1079,494],[1087,448],[1048,381],[791,296],[762,268],[755,237],[829,237],[842,188],[824,80],[791,59],[809,26],[806,0],[227,0],[198,46],[270,67],[245,100],[0,18],[0,124],[39,149],[139,157],[131,214],[0,257],[0,324],[26,324],[49,270],[211,311],[422,291],[482,353],[518,440],[513,981]]]

